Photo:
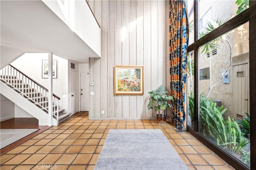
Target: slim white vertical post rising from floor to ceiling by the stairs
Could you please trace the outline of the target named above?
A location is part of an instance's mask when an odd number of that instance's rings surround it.
[[[53,102],[53,92],[52,92],[52,53],[48,53],[48,117],[49,125],[52,126],[52,102]]]

